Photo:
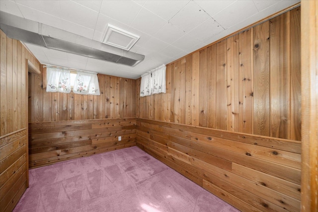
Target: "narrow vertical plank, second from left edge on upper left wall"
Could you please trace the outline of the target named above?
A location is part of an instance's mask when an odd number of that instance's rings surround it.
[[[13,132],[13,76],[12,76],[12,39],[6,37],[6,92],[7,92],[7,117],[6,117],[6,128],[7,133]]]

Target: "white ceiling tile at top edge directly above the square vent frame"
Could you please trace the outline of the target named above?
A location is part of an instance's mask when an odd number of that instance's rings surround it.
[[[132,0],[103,0],[100,13],[130,25],[141,8]]]

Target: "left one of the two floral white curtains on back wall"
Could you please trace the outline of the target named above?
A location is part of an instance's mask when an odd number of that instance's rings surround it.
[[[70,93],[70,70],[47,67],[47,92]]]

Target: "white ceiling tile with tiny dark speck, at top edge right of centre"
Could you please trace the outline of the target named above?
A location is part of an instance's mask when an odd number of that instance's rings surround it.
[[[213,18],[224,28],[229,28],[257,12],[257,8],[253,1],[239,0],[214,15]]]

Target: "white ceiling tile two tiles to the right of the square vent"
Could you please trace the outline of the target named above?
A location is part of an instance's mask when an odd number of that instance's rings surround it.
[[[180,37],[185,35],[185,32],[183,32],[178,27],[175,27],[171,23],[166,23],[155,35],[156,38],[167,42],[167,43],[173,43]]]

